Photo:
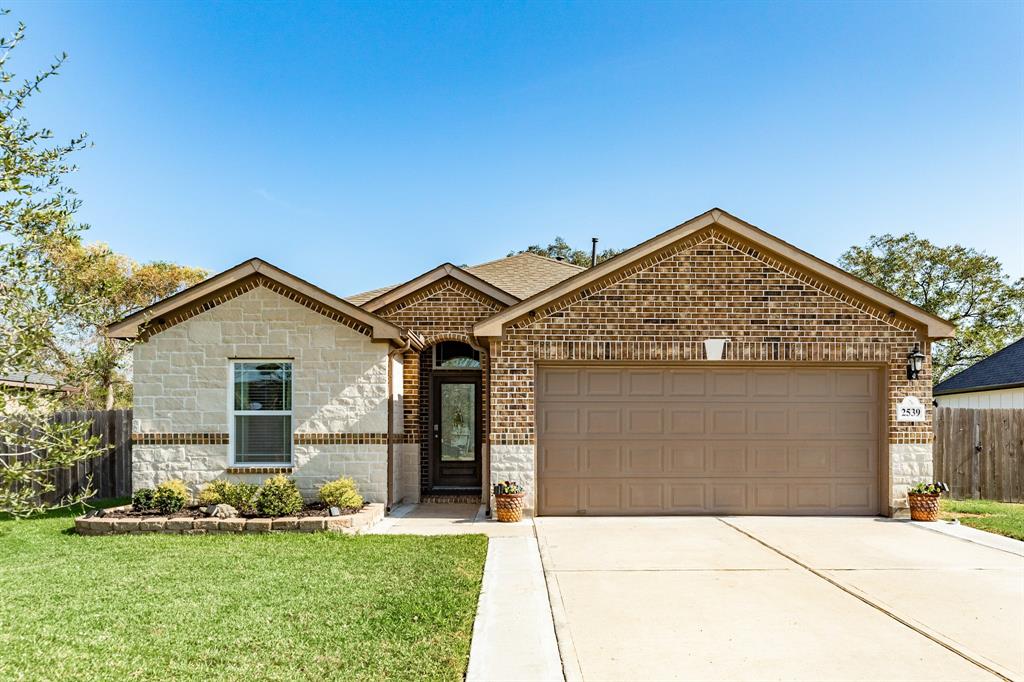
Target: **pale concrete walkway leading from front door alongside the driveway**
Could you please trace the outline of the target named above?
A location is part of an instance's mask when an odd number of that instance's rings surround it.
[[[469,682],[561,682],[555,629],[532,519],[498,523],[479,505],[403,505],[371,532],[489,538],[473,623]]]

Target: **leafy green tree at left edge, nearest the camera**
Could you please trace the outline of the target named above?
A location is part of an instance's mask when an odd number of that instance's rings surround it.
[[[63,180],[74,170],[69,157],[85,146],[85,135],[54,142],[50,130],[33,128],[26,118],[30,97],[57,74],[67,55],[10,85],[14,75],[8,62],[24,39],[20,23],[10,36],[0,37],[0,374],[43,370],[57,321],[92,305],[53,287],[45,256],[48,245],[74,239],[83,228],[74,220],[79,202]],[[0,386],[0,441],[19,455],[0,457],[0,513],[28,515],[92,495],[87,486],[55,505],[40,502],[40,493],[54,489],[53,471],[103,452],[99,439],[89,437],[88,423],[50,420],[53,395]]]

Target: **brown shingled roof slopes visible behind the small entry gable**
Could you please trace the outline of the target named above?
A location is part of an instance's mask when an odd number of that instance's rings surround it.
[[[452,267],[456,266],[452,265]],[[554,258],[526,252],[458,269],[468,272],[520,300],[542,292],[586,268],[563,260],[555,260]],[[433,271],[431,270],[431,272]],[[379,298],[382,294],[409,285],[412,282],[415,282],[415,280],[407,282],[404,285],[391,285],[390,287],[373,289],[346,298],[355,305],[364,305],[369,301]]]

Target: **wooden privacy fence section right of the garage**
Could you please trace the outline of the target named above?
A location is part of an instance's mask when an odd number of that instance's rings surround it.
[[[935,411],[935,479],[957,500],[1024,502],[1024,410]]]

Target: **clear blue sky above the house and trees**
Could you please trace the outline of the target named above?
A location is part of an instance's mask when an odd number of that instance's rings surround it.
[[[835,262],[915,230],[1024,274],[1021,3],[52,3],[31,118],[89,239],[337,294],[719,206]]]

